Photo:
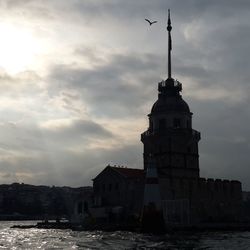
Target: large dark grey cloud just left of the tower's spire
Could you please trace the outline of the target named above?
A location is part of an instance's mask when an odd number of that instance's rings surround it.
[[[56,95],[58,88],[76,90],[89,109],[99,116],[138,115],[152,89],[157,66],[154,55],[122,54],[114,54],[108,62],[90,70],[59,65],[49,76],[49,81],[53,82],[50,91]]]

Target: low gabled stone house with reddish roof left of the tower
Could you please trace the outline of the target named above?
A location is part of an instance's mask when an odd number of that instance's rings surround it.
[[[93,179],[94,207],[139,216],[144,192],[143,169],[107,166]]]

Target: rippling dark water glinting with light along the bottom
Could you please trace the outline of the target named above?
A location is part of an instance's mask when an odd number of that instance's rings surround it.
[[[250,249],[250,232],[176,233],[152,236],[131,232],[73,232],[54,229],[13,229],[0,222],[0,249]]]

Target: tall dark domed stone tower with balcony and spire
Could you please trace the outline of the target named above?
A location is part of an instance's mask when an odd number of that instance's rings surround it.
[[[158,100],[149,117],[149,128],[141,135],[144,169],[155,158],[159,177],[199,178],[198,142],[192,129],[192,113],[180,94],[182,85],[171,77],[171,21],[168,16],[168,78],[158,84]]]

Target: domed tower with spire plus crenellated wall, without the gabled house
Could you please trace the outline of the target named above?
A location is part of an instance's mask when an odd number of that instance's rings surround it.
[[[167,29],[168,78],[158,84],[158,100],[148,115],[149,128],[141,135],[144,169],[153,158],[167,224],[237,221],[242,205],[241,183],[200,178],[200,132],[192,128],[193,114],[180,94],[182,84],[171,76],[170,16]]]

